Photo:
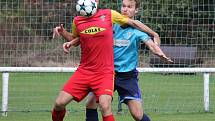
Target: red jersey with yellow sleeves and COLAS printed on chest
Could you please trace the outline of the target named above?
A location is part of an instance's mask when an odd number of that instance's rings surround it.
[[[113,72],[112,23],[126,22],[126,17],[109,9],[100,9],[92,17],[75,17],[73,35],[80,37],[81,46],[81,61],[78,69]]]

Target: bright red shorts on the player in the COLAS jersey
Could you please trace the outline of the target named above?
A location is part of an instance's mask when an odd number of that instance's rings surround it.
[[[71,94],[74,100],[80,102],[89,92],[93,92],[98,101],[101,95],[113,96],[114,74],[80,72],[77,70],[63,87],[63,91]]]

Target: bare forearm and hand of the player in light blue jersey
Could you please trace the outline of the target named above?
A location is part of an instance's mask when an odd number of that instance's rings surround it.
[[[167,63],[173,63],[173,61],[168,58],[158,45],[156,45],[152,40],[145,42],[146,46],[153,52],[153,54],[159,56],[162,60]]]

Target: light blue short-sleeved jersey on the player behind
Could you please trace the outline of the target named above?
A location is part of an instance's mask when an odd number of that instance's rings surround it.
[[[114,68],[117,72],[132,71],[138,64],[138,48],[141,41],[150,37],[132,27],[122,28],[114,24]]]

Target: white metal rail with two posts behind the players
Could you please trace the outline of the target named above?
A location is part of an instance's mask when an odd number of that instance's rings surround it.
[[[209,74],[215,72],[215,68],[137,68],[139,72],[153,73],[203,73],[204,76],[204,110],[209,111]],[[9,73],[27,72],[74,72],[76,67],[0,67],[2,74],[2,116],[8,112],[8,84]]]

